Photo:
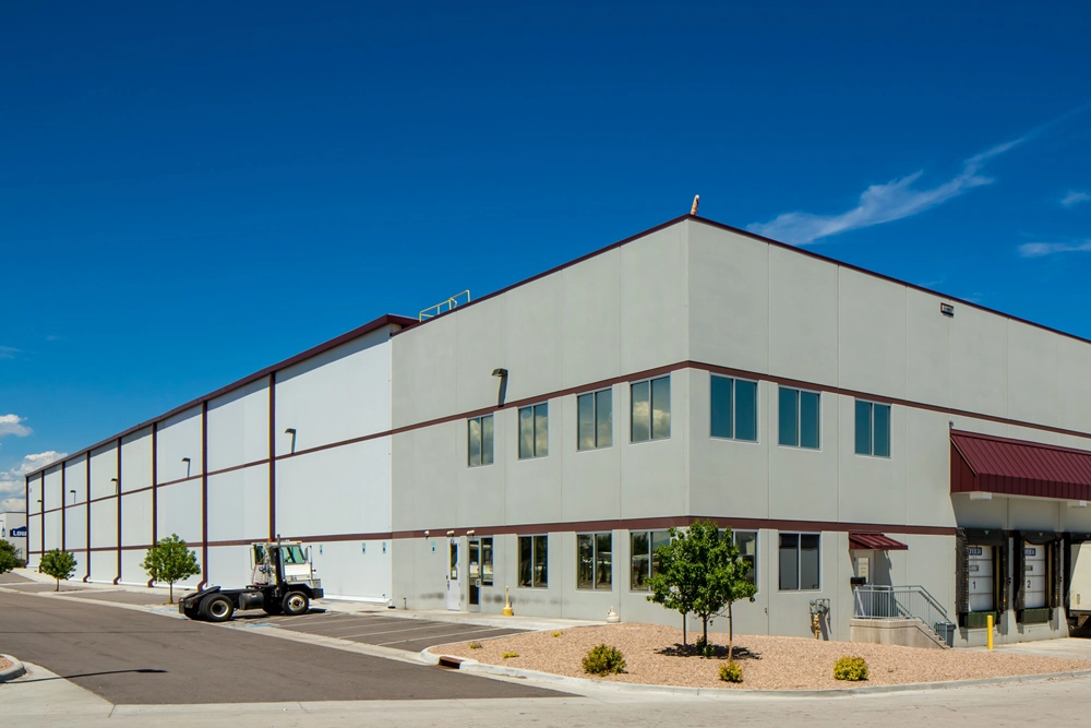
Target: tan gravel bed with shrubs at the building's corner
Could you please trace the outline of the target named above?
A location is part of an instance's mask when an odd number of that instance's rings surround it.
[[[735,635],[735,661],[743,668],[742,684],[723,682],[718,670],[727,657],[726,634],[709,634],[722,645],[722,657],[703,658],[679,654],[682,631],[659,624],[610,624],[553,632],[482,640],[479,649],[470,643],[432,647],[430,652],[468,657],[480,663],[505,665],[576,678],[589,678],[582,660],[595,645],[606,643],[625,656],[626,671],[597,680],[639,682],[691,688],[750,690],[829,690],[853,685],[894,685],[911,682],[972,680],[1012,675],[1069,672],[1091,669],[1091,660],[1004,655],[967,649],[920,649],[861,642],[823,642],[804,637]],[[688,632],[691,644],[700,632]],[[504,658],[504,653],[518,657]],[[865,682],[834,679],[834,663],[843,655],[867,661]]]

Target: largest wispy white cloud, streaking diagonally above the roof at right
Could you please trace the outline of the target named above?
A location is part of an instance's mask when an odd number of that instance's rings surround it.
[[[942,184],[918,188],[915,184],[924,174],[924,170],[918,170],[886,184],[868,187],[860,195],[856,206],[847,212],[836,215],[783,213],[768,223],[754,223],[747,229],[793,246],[805,246],[839,232],[910,217],[964,194],[975,187],[991,184],[993,179],[981,174],[985,165],[1024,143],[1035,133],[1031,132],[973,155],[962,163],[962,169],[958,175]]]

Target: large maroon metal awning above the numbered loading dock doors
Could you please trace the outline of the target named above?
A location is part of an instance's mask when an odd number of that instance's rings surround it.
[[[1091,452],[951,430],[951,492],[1091,500]]]

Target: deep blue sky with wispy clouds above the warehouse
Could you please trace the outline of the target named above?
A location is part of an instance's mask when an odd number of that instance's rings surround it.
[[[231,4],[0,5],[0,506],[695,193],[1091,337],[1086,3]]]

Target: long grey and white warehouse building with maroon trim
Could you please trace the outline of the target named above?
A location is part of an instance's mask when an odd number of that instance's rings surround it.
[[[281,534],[335,597],[500,612],[511,587],[518,613],[675,623],[652,550],[714,518],[754,565],[739,632],[828,609],[859,637],[867,587],[913,585],[956,645],[988,614],[1000,642],[1063,636],[1088,372],[1083,339],[687,215],[31,474],[31,561],[143,584],[178,533],[192,585],[241,585]]]

